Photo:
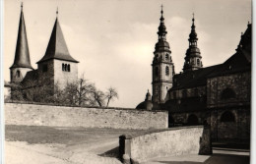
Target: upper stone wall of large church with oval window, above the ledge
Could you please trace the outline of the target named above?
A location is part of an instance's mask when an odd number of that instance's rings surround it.
[[[222,98],[224,89],[234,91],[231,98]],[[207,80],[208,108],[250,104],[251,73],[244,72]]]

